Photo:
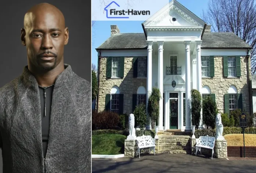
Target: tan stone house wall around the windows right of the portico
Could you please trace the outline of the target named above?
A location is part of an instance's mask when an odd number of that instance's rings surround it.
[[[242,94],[243,109],[249,112],[249,82],[251,79],[251,68],[248,65],[247,57],[240,57],[241,59],[241,77],[227,78],[224,77],[223,57],[214,57],[214,77],[202,78],[202,87],[208,85],[211,89],[211,93],[215,94],[215,101],[218,110],[224,113],[224,94],[228,93],[228,89],[231,85],[237,87],[238,93]],[[250,60],[249,60],[250,63]],[[249,68],[249,74],[248,74]],[[249,79],[247,79],[249,78]]]

